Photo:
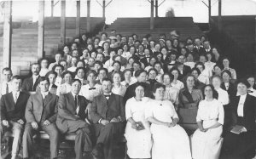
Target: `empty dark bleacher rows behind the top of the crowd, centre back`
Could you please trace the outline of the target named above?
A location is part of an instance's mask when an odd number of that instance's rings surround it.
[[[187,37],[200,37],[204,33],[195,25],[192,17],[160,17],[154,19],[154,30],[149,28],[150,18],[118,18],[108,26],[105,32],[110,33],[116,30],[123,36],[130,36],[136,33],[139,38],[146,34],[151,34],[153,39],[158,39],[160,33],[166,33],[169,37],[170,31],[177,30],[181,32],[180,39]],[[102,32],[100,32],[102,33]]]

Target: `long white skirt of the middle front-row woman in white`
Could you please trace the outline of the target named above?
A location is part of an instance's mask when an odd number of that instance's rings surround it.
[[[167,128],[151,125],[152,159],[191,159],[189,137],[179,125]]]

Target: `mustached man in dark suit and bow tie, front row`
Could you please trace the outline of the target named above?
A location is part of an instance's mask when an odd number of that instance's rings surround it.
[[[113,159],[113,144],[124,134],[125,106],[123,98],[111,93],[112,82],[102,80],[101,95],[93,99],[90,116],[96,131],[96,147],[92,155],[96,158]]]

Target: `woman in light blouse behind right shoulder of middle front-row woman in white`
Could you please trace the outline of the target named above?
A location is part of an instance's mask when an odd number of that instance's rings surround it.
[[[179,90],[177,88],[173,88],[171,82],[173,80],[173,75],[169,73],[165,73],[162,76],[163,84],[166,86],[165,99],[170,100],[172,104],[177,108],[178,104],[178,93]]]

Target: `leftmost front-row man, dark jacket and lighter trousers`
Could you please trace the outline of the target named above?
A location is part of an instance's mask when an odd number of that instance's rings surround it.
[[[8,130],[11,130],[14,134],[11,155],[12,158],[15,159],[19,152],[22,139],[21,135],[23,133],[24,123],[26,122],[25,109],[29,94],[20,92],[22,81],[19,76],[14,76],[11,84],[13,91],[9,94],[4,94],[0,103],[1,119],[3,123],[3,132],[1,132],[1,135]]]

